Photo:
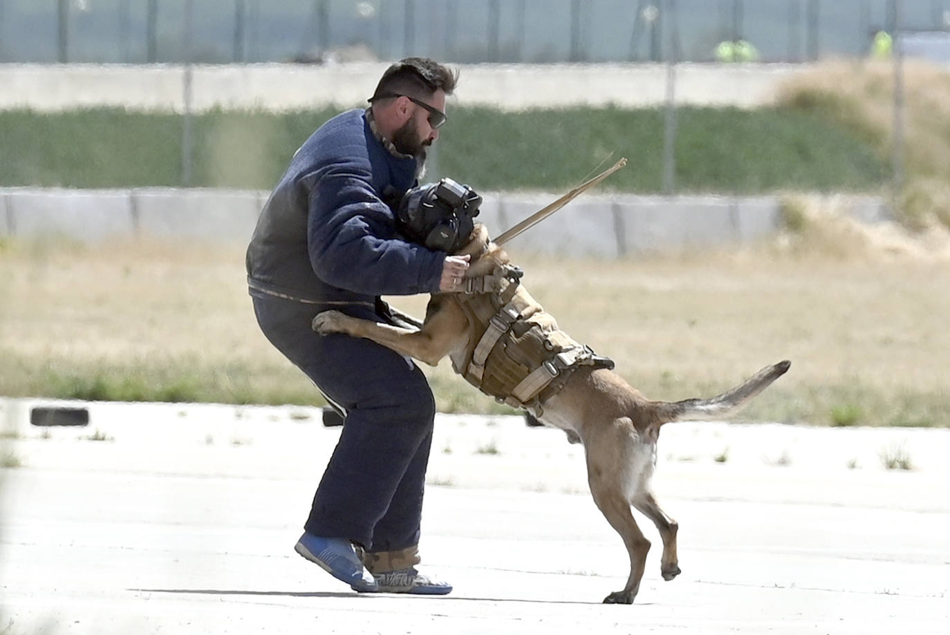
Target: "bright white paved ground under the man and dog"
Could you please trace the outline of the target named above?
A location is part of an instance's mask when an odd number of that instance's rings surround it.
[[[0,633],[938,633],[950,430],[680,423],[656,492],[680,523],[632,607],[580,448],[440,417],[422,551],[445,598],[357,595],[293,551],[338,435],[313,410],[92,404],[83,429],[0,400]],[[4,427],[6,422],[6,427]],[[98,440],[96,440],[98,439]],[[882,455],[912,471],[884,469]],[[717,461],[716,459],[719,459]]]

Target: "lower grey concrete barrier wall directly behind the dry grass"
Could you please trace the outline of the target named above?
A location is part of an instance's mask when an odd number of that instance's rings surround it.
[[[0,188],[0,236],[67,236],[87,244],[138,237],[244,244],[267,192],[213,189]],[[478,219],[493,235],[558,198],[487,193]],[[888,217],[882,199],[852,199],[865,222]],[[775,196],[581,196],[510,243],[513,252],[613,258],[748,243],[781,225]]]

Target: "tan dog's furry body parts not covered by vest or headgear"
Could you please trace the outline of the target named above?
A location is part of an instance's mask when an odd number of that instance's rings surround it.
[[[489,240],[483,225],[475,226],[471,239],[460,252],[461,255],[466,253],[471,255],[466,278],[485,276],[508,264],[507,254]],[[518,294],[529,307],[523,317],[557,329],[554,318],[521,285],[516,291]],[[364,337],[430,365],[448,356],[459,372],[471,360],[473,349],[486,328],[471,318],[471,311],[466,311],[460,298],[455,292],[432,294],[425,322],[419,329],[377,324],[335,310],[317,314],[314,329],[323,334],[348,333]],[[626,586],[610,593],[604,603],[633,603],[643,577],[650,541],[637,527],[631,506],[650,518],[662,537],[660,571],[663,579],[672,580],[680,572],[676,558],[678,526],[660,509],[650,490],[660,427],[677,420],[725,418],[784,374],[789,365],[784,361],[767,366],[746,382],[712,399],[682,402],[650,401],[612,370],[581,365],[560,392],[543,403],[542,422],[561,428],[569,439],[583,443],[591,495],[620,534],[630,556]]]

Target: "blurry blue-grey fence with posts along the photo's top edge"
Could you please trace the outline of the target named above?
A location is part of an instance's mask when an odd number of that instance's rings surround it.
[[[0,0],[0,62],[798,63],[867,54],[898,1],[950,32],[950,0]]]

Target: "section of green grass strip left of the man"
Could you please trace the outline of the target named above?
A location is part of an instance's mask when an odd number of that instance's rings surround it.
[[[211,111],[194,120],[191,185],[270,188],[296,147],[335,110]],[[122,108],[0,113],[0,184],[181,186],[182,118]]]

